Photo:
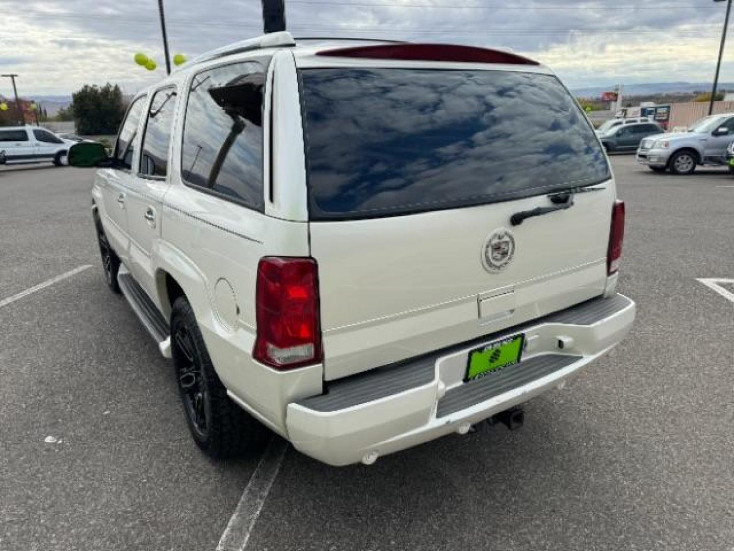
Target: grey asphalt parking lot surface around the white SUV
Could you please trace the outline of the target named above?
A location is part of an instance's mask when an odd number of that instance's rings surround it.
[[[288,449],[247,550],[734,550],[734,176],[612,162],[633,334],[520,431],[371,467]],[[260,457],[189,439],[172,367],[105,287],[91,181],[0,168],[0,549],[213,551]]]

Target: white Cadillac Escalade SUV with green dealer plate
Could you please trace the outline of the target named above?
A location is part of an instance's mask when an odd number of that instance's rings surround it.
[[[111,157],[69,158],[100,169],[107,284],[210,455],[262,425],[332,465],[512,425],[633,323],[603,148],[515,54],[264,35],[140,93]]]

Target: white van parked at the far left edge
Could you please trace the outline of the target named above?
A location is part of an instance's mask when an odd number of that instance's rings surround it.
[[[46,162],[66,164],[71,140],[63,140],[53,132],[39,126],[3,126],[0,128],[0,151],[4,151],[3,164],[15,162]]]

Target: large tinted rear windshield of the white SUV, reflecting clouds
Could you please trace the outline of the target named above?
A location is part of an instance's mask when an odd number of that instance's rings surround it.
[[[405,215],[610,177],[555,76],[500,71],[301,71],[312,220]]]

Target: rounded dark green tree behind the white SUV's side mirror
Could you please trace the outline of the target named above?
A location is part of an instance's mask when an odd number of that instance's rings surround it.
[[[81,135],[115,134],[123,120],[123,91],[109,82],[103,87],[85,84],[72,94],[76,132]]]

